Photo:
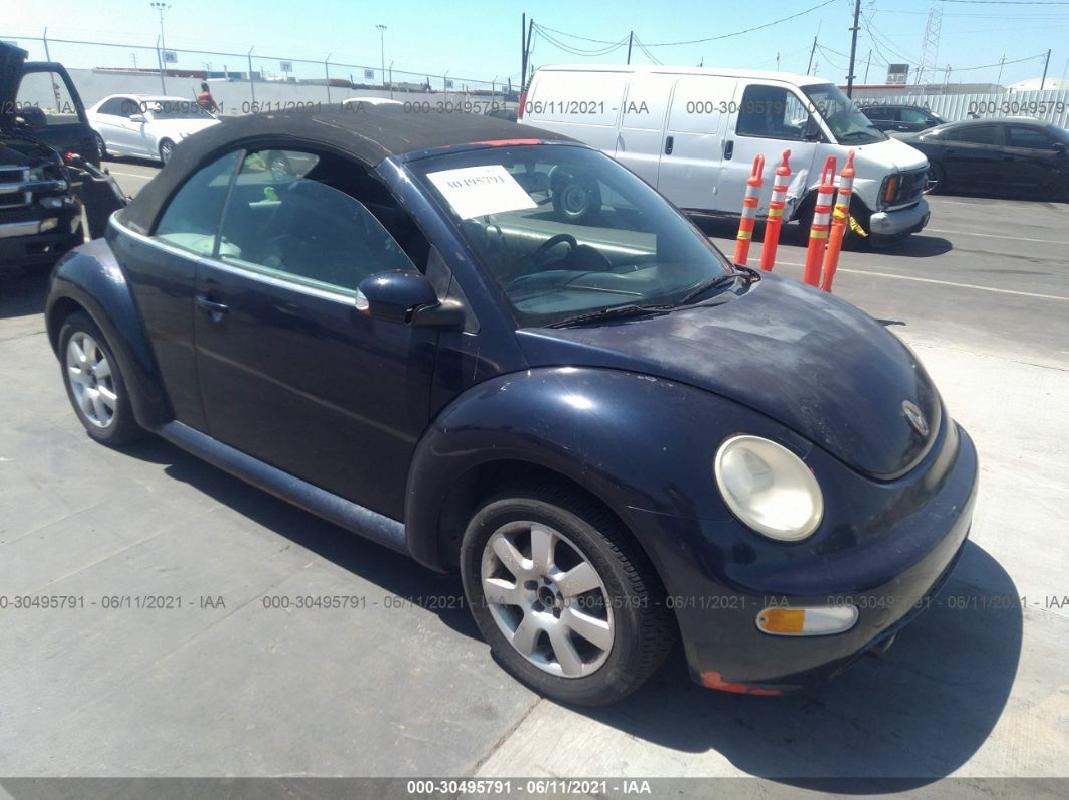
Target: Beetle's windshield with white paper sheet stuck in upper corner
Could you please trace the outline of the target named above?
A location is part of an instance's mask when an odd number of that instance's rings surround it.
[[[597,150],[493,147],[409,168],[456,222],[521,327],[691,302],[696,288],[731,273],[701,231]]]

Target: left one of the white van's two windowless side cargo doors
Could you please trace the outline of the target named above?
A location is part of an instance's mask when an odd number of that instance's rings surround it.
[[[636,73],[623,102],[616,159],[656,187],[665,141],[665,119],[676,76]]]

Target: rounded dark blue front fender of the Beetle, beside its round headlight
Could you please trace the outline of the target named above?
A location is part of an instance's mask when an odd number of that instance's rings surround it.
[[[521,461],[594,494],[640,543],[652,512],[726,519],[712,459],[725,435],[748,431],[810,445],[730,400],[683,384],[611,369],[558,367],[495,378],[441,411],[408,474],[405,529],[413,556],[441,568],[438,519],[451,487],[475,467]]]

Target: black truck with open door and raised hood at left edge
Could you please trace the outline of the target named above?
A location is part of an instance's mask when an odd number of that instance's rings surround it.
[[[0,42],[0,267],[47,265],[124,201],[102,174],[93,130],[61,64]]]

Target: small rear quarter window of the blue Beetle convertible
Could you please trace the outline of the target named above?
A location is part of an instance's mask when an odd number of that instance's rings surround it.
[[[211,256],[227,189],[241,153],[228,153],[186,181],[171,198],[153,236],[200,256]]]

